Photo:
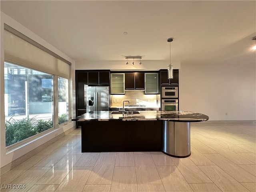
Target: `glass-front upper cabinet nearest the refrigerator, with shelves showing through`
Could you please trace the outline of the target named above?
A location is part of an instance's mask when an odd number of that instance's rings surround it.
[[[111,94],[124,94],[124,73],[111,74]]]

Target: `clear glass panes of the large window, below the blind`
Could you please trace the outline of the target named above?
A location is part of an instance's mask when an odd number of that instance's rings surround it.
[[[4,63],[6,146],[53,127],[54,76]],[[58,77],[58,124],[68,121],[68,79]]]

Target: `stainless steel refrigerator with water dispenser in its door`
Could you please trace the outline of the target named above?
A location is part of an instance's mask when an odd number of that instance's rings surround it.
[[[86,87],[86,112],[109,110],[109,86]]]

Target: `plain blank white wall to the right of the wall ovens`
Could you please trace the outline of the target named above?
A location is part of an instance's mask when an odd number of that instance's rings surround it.
[[[179,91],[180,110],[206,114],[209,120],[256,120],[255,62],[183,62]]]

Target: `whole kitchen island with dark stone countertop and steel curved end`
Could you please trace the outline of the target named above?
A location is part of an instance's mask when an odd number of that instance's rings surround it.
[[[76,119],[81,126],[82,152],[162,151],[187,157],[190,122],[209,117],[184,111],[95,111]]]

